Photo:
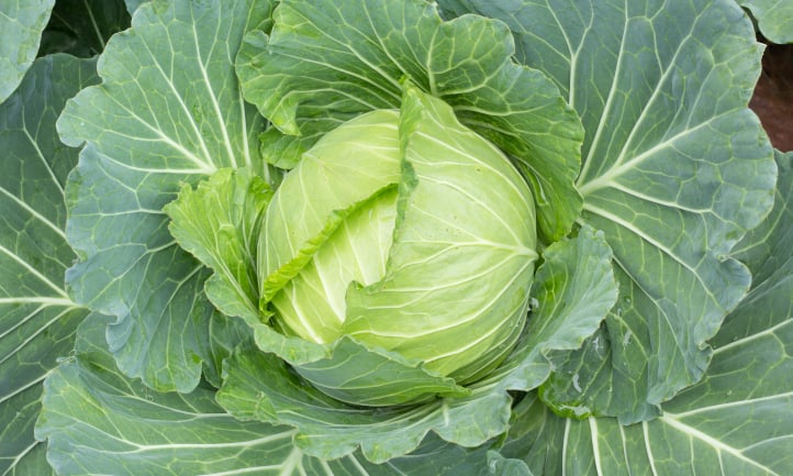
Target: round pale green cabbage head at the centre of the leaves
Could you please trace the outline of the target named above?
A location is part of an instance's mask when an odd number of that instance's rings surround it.
[[[465,385],[498,366],[523,330],[535,229],[532,193],[507,157],[444,101],[406,86],[402,110],[339,125],[276,190],[258,242],[263,305],[286,335],[346,336]],[[330,378],[295,368],[355,403],[434,391],[372,400],[357,384],[332,384],[357,380],[360,366],[343,363]],[[372,379],[401,387],[392,375]]]

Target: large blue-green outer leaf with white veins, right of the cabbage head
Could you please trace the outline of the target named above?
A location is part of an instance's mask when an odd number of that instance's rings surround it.
[[[614,250],[621,300],[562,369],[587,395],[557,385],[546,398],[625,422],[657,414],[706,368],[706,341],[750,283],[727,256],[772,203],[771,147],[746,108],[751,23],[726,0],[440,3],[506,21],[517,57],[555,79],[587,130],[579,221]]]

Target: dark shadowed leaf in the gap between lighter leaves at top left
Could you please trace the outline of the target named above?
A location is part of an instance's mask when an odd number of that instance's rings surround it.
[[[130,26],[123,0],[58,0],[42,36],[38,55],[102,53],[114,33]]]

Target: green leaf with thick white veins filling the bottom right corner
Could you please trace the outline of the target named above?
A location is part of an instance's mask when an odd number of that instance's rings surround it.
[[[561,419],[529,396],[505,455],[544,475],[793,474],[793,154],[778,159],[783,199],[744,242],[755,252],[752,270],[773,264],[774,272],[727,317],[702,381],[666,402],[662,417],[629,427]],[[763,258],[762,248],[773,253]]]

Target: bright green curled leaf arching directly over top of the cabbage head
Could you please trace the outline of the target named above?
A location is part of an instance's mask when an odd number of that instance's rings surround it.
[[[279,130],[301,134],[297,150],[351,117],[398,109],[406,76],[513,157],[548,240],[570,230],[580,212],[578,119],[544,75],[511,60],[501,22],[442,22],[423,0],[282,1],[275,21],[271,37],[247,37],[237,70],[245,97]]]

